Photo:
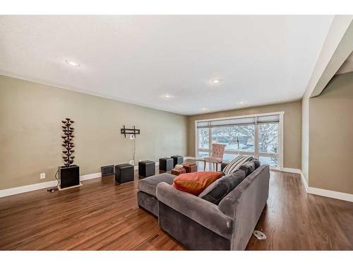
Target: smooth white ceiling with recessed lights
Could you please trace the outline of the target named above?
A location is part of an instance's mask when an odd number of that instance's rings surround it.
[[[332,20],[0,16],[0,73],[180,114],[286,102],[304,94]]]

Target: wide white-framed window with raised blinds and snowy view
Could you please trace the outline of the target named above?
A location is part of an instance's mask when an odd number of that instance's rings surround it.
[[[198,158],[211,155],[212,143],[224,143],[223,160],[253,155],[262,164],[282,168],[283,112],[196,121]]]

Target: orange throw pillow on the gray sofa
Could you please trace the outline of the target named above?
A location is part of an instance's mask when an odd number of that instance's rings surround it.
[[[212,182],[222,176],[222,172],[192,172],[175,177],[173,186],[183,192],[198,195]]]

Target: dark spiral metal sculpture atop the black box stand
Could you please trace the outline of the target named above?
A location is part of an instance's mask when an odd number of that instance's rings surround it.
[[[75,146],[73,144],[73,137],[75,137],[73,135],[73,131],[74,128],[71,126],[74,122],[72,119],[69,118],[65,118],[65,120],[61,121],[64,125],[61,126],[63,128],[63,135],[61,136],[61,138],[63,139],[63,143],[61,144],[61,146],[64,146],[64,148],[66,150],[63,150],[63,159],[64,159],[64,165],[66,166],[70,166],[73,163],[73,158],[75,158],[75,156],[73,156],[73,152],[75,152],[73,150],[73,147]]]

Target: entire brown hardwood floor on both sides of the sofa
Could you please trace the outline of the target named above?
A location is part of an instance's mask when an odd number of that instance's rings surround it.
[[[134,182],[90,179],[83,187],[45,189],[0,199],[0,249],[184,249],[138,208]],[[299,175],[271,172],[258,222],[267,240],[247,249],[353,249],[353,203],[307,195]]]

